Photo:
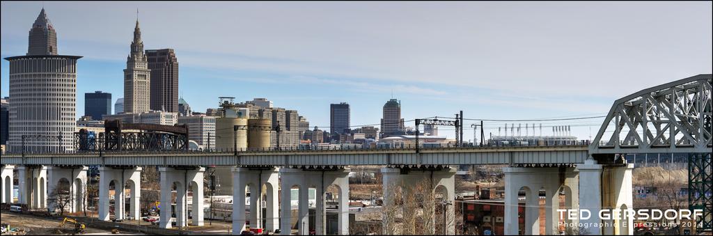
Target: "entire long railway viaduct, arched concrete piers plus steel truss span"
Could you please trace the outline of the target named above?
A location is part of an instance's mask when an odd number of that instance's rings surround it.
[[[3,155],[2,201],[11,201],[12,178],[19,174],[20,203],[31,208],[51,207],[47,193],[51,193],[60,180],[71,183],[71,193],[82,193],[86,183],[88,165],[99,165],[100,204],[99,219],[109,220],[109,186],[115,183],[117,200],[115,218],[122,219],[125,210],[122,188],[128,183],[131,190],[131,217],[138,218],[140,196],[140,166],[158,166],[160,170],[160,195],[162,202],[170,202],[175,189],[176,222],[185,225],[203,225],[202,188],[206,166],[230,168],[233,188],[233,232],[240,234],[250,221],[250,227],[267,230],[283,229],[289,234],[292,214],[290,191],[299,187],[297,229],[299,235],[309,230],[308,188],[317,189],[315,225],[318,235],[325,234],[324,195],[327,187],[339,190],[339,235],[349,234],[349,167],[354,165],[381,165],[384,194],[387,186],[414,185],[419,180],[430,180],[433,190],[443,190],[444,198],[455,200],[455,165],[505,164],[506,183],[505,232],[518,234],[518,192],[525,192],[525,235],[538,235],[540,205],[538,195],[545,191],[545,232],[557,234],[559,214],[558,195],[565,192],[566,208],[629,209],[632,205],[632,168],[622,154],[627,153],[711,153],[711,75],[699,75],[655,86],[633,93],[615,101],[602,123],[602,128],[591,145],[526,146],[526,147],[475,147],[475,148],[425,148],[366,149],[366,150],[296,150],[235,153],[69,153]],[[708,121],[705,121],[708,120]],[[605,134],[607,136],[605,136]],[[611,135],[611,136],[609,136]],[[609,138],[609,140],[605,140]],[[704,158],[705,159],[705,158]],[[708,165],[710,166],[710,165]],[[709,170],[707,170],[709,171]],[[707,178],[710,178],[710,173]],[[703,180],[710,181],[710,180]],[[263,187],[264,186],[264,187]],[[265,199],[260,194],[250,195],[250,219],[245,214],[245,188],[251,193],[267,190]],[[197,214],[188,221],[188,189],[193,189],[193,207]],[[266,215],[258,210],[257,202],[266,202]],[[384,197],[385,204],[388,197]],[[48,205],[48,203],[50,205]],[[71,211],[81,209],[85,202],[75,201]],[[162,209],[160,227],[169,228],[170,207]],[[282,209],[282,210],[280,210]],[[256,212],[252,214],[252,212]],[[448,207],[453,217],[453,207]],[[265,219],[265,225],[262,220]],[[600,220],[590,217],[580,223],[590,224],[583,235],[631,235],[632,219]],[[448,234],[454,234],[455,225],[447,225]]]

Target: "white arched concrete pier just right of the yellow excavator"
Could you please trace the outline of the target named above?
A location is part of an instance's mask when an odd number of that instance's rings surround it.
[[[99,220],[109,221],[111,197],[110,186],[114,185],[114,219],[125,219],[125,185],[131,190],[129,215],[134,220],[141,217],[139,197],[141,195],[140,167],[100,167],[99,168]]]

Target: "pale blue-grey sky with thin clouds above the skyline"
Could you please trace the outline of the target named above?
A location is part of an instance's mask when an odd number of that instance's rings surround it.
[[[390,98],[406,120],[605,116],[617,98],[713,64],[710,1],[2,1],[0,56],[27,52],[42,7],[58,52],[83,56],[78,117],[84,93],[123,97],[137,9],[145,49],[175,49],[180,96],[194,111],[217,107],[219,96],[268,98],[327,130],[330,103],[349,103],[352,125],[365,125],[379,123]],[[2,60],[3,97],[8,66]],[[543,126],[573,125],[588,139],[602,120]],[[503,125],[486,122],[486,135]]]

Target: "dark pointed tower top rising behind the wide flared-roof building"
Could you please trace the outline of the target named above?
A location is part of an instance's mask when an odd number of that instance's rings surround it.
[[[27,56],[57,55],[57,32],[42,8],[30,29]]]

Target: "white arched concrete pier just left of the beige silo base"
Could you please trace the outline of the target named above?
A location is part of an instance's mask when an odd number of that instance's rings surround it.
[[[160,172],[161,185],[161,213],[159,227],[169,229],[171,217],[174,214],[171,209],[173,202],[173,190],[175,197],[175,221],[176,227],[188,226],[188,190],[193,191],[193,224],[203,225],[203,173],[205,168],[158,168]]]

